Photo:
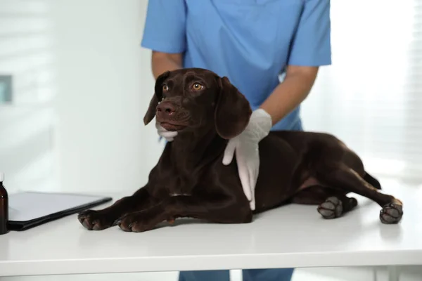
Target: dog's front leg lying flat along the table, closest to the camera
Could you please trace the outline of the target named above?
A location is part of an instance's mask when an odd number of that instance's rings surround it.
[[[176,196],[150,209],[127,214],[120,218],[117,224],[124,231],[143,232],[153,229],[162,221],[173,221],[182,217],[198,218],[212,223],[250,223],[252,211],[247,201],[212,201],[193,196]]]

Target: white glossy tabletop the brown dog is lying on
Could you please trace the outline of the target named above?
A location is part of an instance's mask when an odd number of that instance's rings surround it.
[[[73,215],[1,235],[0,276],[422,264],[422,188],[384,186],[404,202],[398,225],[383,225],[381,208],[360,196],[334,220],[289,205],[249,224],[189,220],[146,233],[88,231]]]

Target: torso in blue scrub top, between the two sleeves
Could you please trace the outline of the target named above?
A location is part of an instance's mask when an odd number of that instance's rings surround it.
[[[252,109],[279,84],[303,0],[186,0],[184,67],[229,77]],[[299,108],[273,129],[300,129]]]

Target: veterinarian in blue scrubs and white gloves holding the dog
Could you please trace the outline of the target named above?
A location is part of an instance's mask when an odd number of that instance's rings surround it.
[[[300,103],[321,65],[331,64],[329,0],[150,0],[141,46],[153,51],[155,79],[201,67],[226,76],[252,106],[250,123],[229,141],[255,209],[258,143],[270,130],[302,130]],[[283,79],[279,79],[282,74]],[[177,132],[157,127],[167,141]],[[283,222],[280,222],[283,223]],[[293,268],[243,270],[244,281],[288,281]],[[228,281],[229,270],[181,272],[179,281]]]

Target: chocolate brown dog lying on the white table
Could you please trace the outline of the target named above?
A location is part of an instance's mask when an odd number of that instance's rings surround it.
[[[134,232],[181,217],[250,223],[252,214],[290,202],[319,205],[324,218],[337,218],[357,206],[349,192],[378,203],[383,223],[400,221],[402,202],[378,191],[380,183],[354,152],[334,136],[302,131],[271,131],[260,142],[252,212],[236,160],[222,164],[227,140],[245,129],[251,112],[226,77],[198,68],[161,74],[144,123],[156,117],[178,136],[165,146],[146,186],[106,209],[83,211],[79,221],[89,230],[118,225]]]

